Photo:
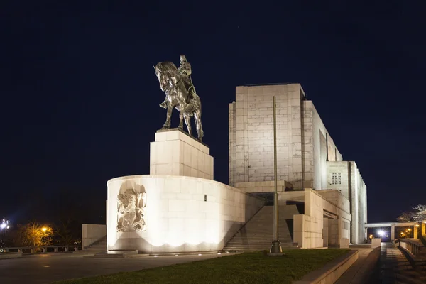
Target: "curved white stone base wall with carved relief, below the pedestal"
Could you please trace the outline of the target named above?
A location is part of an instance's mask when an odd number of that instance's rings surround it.
[[[264,201],[214,180],[133,175],[107,182],[107,248],[221,250]]]

